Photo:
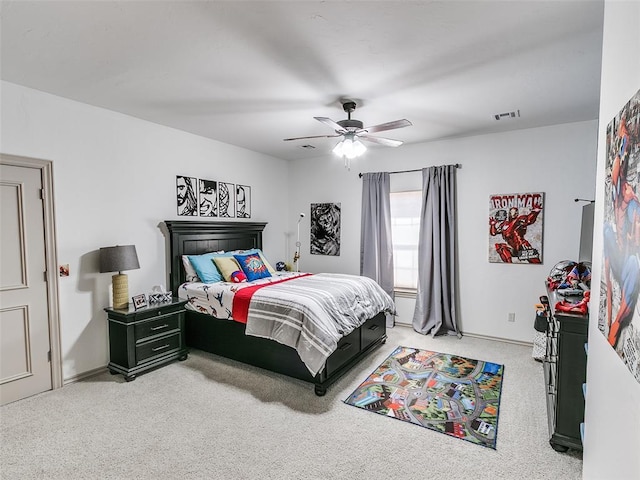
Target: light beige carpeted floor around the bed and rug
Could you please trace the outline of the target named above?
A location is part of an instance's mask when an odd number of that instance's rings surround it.
[[[497,450],[343,400],[398,345],[505,366]],[[396,327],[324,397],[304,382],[194,351],[131,383],[104,373],[0,408],[3,479],[581,477],[548,444],[542,366],[531,347],[432,339]],[[409,446],[409,447],[408,447]]]

